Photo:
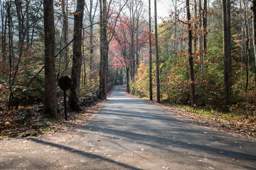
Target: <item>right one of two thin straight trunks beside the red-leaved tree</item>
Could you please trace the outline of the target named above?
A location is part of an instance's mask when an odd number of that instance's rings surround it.
[[[159,47],[158,47],[158,35],[157,35],[156,0],[154,0],[154,14],[155,14],[155,40],[156,40],[156,99],[157,99],[157,103],[160,103]]]

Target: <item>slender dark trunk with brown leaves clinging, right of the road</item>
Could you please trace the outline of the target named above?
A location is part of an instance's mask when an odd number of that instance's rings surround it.
[[[188,20],[188,62],[191,77],[191,105],[196,106],[196,89],[195,89],[195,78],[193,70],[193,56],[192,56],[192,28],[191,28],[191,13],[189,7],[189,0],[186,0],[186,12]]]

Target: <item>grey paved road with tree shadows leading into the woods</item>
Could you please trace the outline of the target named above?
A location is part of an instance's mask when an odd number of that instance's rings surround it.
[[[124,94],[88,125],[0,141],[0,169],[256,169],[256,142],[167,113]]]

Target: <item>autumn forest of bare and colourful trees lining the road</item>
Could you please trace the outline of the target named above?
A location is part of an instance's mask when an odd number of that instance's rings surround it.
[[[1,128],[31,105],[63,114],[63,76],[70,111],[82,111],[81,96],[105,100],[126,84],[139,98],[255,126],[256,1],[170,0],[166,16],[158,4],[1,0]]]

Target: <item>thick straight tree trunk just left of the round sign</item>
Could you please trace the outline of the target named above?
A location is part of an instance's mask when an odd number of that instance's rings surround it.
[[[44,113],[56,117],[57,92],[55,79],[55,29],[53,0],[43,0],[45,32],[45,100]]]

